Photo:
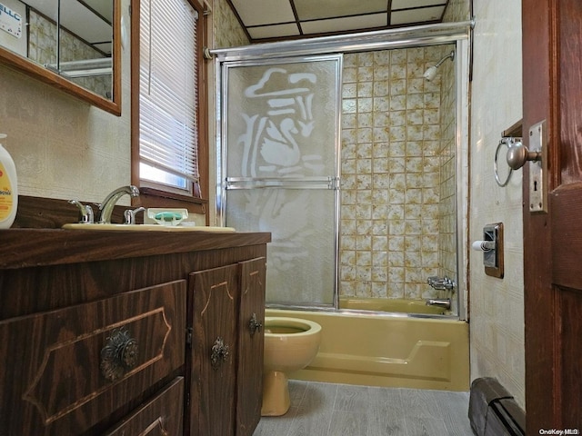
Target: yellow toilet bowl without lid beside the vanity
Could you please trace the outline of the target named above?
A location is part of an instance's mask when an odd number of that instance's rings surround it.
[[[291,404],[287,373],[302,370],[316,357],[321,325],[298,318],[265,317],[262,416],[284,415]]]

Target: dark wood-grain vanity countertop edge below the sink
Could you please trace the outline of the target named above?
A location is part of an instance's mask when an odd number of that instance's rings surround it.
[[[271,233],[8,229],[0,241],[0,269],[13,269],[244,247],[271,242]]]

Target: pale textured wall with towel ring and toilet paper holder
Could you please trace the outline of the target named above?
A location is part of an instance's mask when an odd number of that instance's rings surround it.
[[[505,226],[505,278],[489,277],[470,254],[471,378],[496,377],[525,406],[521,171],[497,186],[493,161],[501,132],[522,117],[519,2],[476,2],[471,102],[470,241],[487,223]],[[527,126],[524,126],[527,132]]]

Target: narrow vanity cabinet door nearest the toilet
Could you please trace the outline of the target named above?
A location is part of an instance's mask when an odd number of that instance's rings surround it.
[[[263,398],[266,259],[261,257],[239,265],[241,295],[236,436],[252,436],[261,419]]]

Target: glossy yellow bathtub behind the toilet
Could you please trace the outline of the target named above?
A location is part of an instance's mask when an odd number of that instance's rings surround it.
[[[318,322],[316,358],[291,379],[368,386],[469,390],[467,322],[404,313],[266,309],[266,316]]]

